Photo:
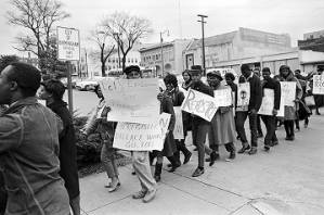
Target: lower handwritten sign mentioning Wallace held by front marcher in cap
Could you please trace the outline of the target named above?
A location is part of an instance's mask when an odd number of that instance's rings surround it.
[[[170,117],[170,114],[163,113],[155,124],[118,123],[114,148],[128,151],[161,151]]]

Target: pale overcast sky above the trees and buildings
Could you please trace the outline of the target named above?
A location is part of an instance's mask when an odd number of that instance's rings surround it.
[[[9,0],[0,1],[0,54],[18,54],[13,49],[15,37],[26,29],[8,24],[5,14],[11,8]],[[289,34],[291,45],[302,39],[304,33],[324,29],[323,0],[61,0],[70,17],[60,26],[80,30],[81,46],[91,48],[89,30],[106,15],[127,12],[152,22],[154,33],[142,40],[144,43],[177,38],[200,38],[202,26],[197,14],[204,14],[205,37],[247,27],[274,34]]]

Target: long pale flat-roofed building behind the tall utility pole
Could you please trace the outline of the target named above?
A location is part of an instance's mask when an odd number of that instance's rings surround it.
[[[205,64],[206,68],[217,67],[220,62],[283,52],[290,47],[290,37],[287,34],[239,27],[235,31],[205,38]],[[196,39],[183,53],[185,68],[193,64],[202,65],[202,39]]]

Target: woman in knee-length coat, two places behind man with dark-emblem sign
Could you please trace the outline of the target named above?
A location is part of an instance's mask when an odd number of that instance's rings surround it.
[[[284,126],[286,130],[286,140],[295,140],[295,119],[297,118],[296,112],[298,111],[298,101],[302,97],[302,89],[298,81],[298,79],[294,76],[289,66],[282,65],[280,67],[280,81],[295,81],[296,83],[296,97],[295,97],[295,105],[286,106],[285,105],[285,116],[284,116]]]

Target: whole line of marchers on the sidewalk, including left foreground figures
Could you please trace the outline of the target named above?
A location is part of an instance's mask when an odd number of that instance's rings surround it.
[[[321,75],[323,71],[319,71]],[[142,78],[139,66],[132,65],[124,71],[125,78]],[[140,190],[132,194],[133,199],[142,199],[144,203],[154,200],[157,182],[161,180],[164,157],[169,172],[176,172],[181,165],[191,161],[192,153],[185,144],[185,138],[192,135],[192,143],[197,151],[197,167],[191,173],[198,177],[206,170],[205,163],[215,165],[220,157],[219,148],[225,147],[229,160],[236,153],[258,152],[258,138],[263,137],[261,122],[265,125],[263,150],[269,152],[278,144],[276,129],[284,125],[286,140],[295,140],[295,126],[299,121],[309,125],[311,111],[306,105],[306,98],[312,96],[312,75],[303,77],[300,71],[295,74],[286,65],[282,65],[278,75],[272,77],[273,71],[263,67],[252,71],[246,64],[241,66],[238,80],[232,73],[224,76],[218,71],[207,73],[207,83],[202,81],[203,69],[198,65],[182,73],[183,84],[172,74],[164,77],[166,88],[157,94],[160,113],[171,115],[164,148],[161,151],[132,151],[133,175],[140,181]],[[284,106],[284,116],[278,117],[281,108],[280,81],[296,83],[294,106]],[[246,105],[237,105],[237,84],[249,83],[250,99]],[[213,97],[216,90],[231,89],[233,102],[229,106],[220,106],[210,122],[191,113],[182,112],[184,139],[173,137],[176,114],[173,106],[181,106],[185,100],[183,91],[193,89]],[[272,115],[259,115],[264,89],[274,92]],[[37,93],[38,92],[38,93]],[[0,188],[1,213],[4,214],[80,214],[80,191],[76,164],[76,146],[72,115],[63,101],[65,87],[60,80],[41,80],[40,72],[25,63],[11,63],[0,74]],[[100,86],[94,89],[99,102],[82,129],[85,138],[94,129],[99,131],[103,147],[101,161],[107,174],[108,192],[116,192],[121,187],[115,160],[117,149],[113,146],[116,122],[107,121],[111,112]],[[46,100],[47,106],[38,102]],[[317,101],[323,99],[315,97]],[[316,106],[316,114],[319,109]],[[245,122],[249,121],[250,140],[247,139]],[[191,131],[191,132],[189,132]],[[208,137],[208,146],[205,143]],[[235,141],[242,142],[236,151]],[[183,153],[183,161],[180,160]],[[205,154],[208,157],[205,159]],[[155,165],[153,165],[154,161]],[[154,170],[152,172],[152,166]],[[5,198],[3,198],[5,195]],[[1,214],[0,213],[0,214]]]

